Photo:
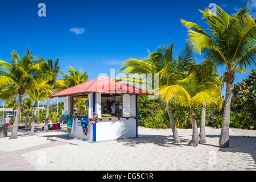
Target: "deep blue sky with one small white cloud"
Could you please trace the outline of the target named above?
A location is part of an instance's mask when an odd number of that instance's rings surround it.
[[[46,17],[38,16],[38,4],[46,4]],[[9,60],[15,49],[20,55],[29,46],[32,55],[59,58],[61,71],[87,71],[89,79],[110,75],[122,61],[147,56],[162,44],[175,42],[175,53],[185,43],[187,29],[180,19],[207,28],[199,9],[216,3],[227,13],[246,5],[245,0],[193,1],[11,1],[0,0],[0,59]],[[256,15],[256,0],[250,1]],[[196,55],[200,62],[201,57]],[[225,69],[220,68],[220,73]],[[235,82],[248,75],[238,75]]]

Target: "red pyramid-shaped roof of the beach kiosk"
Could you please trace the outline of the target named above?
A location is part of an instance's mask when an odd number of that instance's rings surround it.
[[[94,78],[93,80],[72,86],[71,88],[61,90],[60,92],[54,93],[49,97],[63,97],[86,92],[150,94],[148,91],[137,86],[129,85],[121,81],[114,81],[113,79],[105,76],[100,76]]]

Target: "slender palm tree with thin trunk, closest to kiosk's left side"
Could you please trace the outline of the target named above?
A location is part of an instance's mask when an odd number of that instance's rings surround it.
[[[60,71],[60,67],[58,66],[59,64],[59,59],[56,59],[53,63],[51,59],[48,59],[47,62],[44,61],[42,58],[40,60],[43,61],[43,71],[44,71],[44,76],[46,76],[46,79],[48,80],[47,84],[50,86],[50,89],[48,92],[52,94],[53,90],[56,90],[56,82],[57,82],[57,74]],[[59,83],[58,83],[59,84]],[[46,121],[44,123],[44,131],[48,130],[48,119],[49,119],[49,106],[50,106],[50,99],[49,97],[47,98],[47,108],[46,108]]]

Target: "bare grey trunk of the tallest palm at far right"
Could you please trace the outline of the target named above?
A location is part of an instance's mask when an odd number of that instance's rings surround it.
[[[232,82],[226,81],[226,96],[225,106],[222,118],[221,135],[218,144],[220,147],[229,147],[229,122],[230,122],[230,105],[231,105],[231,93],[232,93]]]

